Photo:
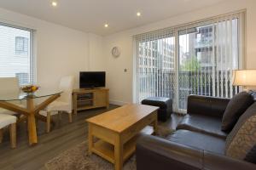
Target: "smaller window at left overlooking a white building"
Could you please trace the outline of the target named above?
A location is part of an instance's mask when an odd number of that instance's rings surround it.
[[[18,77],[20,85],[35,82],[30,29],[0,24],[0,77]]]

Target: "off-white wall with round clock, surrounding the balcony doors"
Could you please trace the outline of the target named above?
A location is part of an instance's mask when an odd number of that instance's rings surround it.
[[[219,14],[227,14],[239,9],[247,9],[247,69],[256,69],[256,1],[255,0],[230,0],[212,7],[196,10],[173,18],[162,20],[147,26],[137,27],[128,31],[121,31],[104,37],[103,54],[108,58],[107,85],[110,88],[110,101],[117,104],[132,102],[132,36],[147,31],[154,31],[168,26],[177,26],[195,20],[206,19]],[[143,17],[143,16],[142,16]],[[121,55],[118,59],[111,56],[111,48],[119,46]],[[123,70],[127,68],[128,72]]]

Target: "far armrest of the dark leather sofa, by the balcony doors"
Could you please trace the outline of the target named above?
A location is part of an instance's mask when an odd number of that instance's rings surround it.
[[[222,117],[230,99],[189,95],[188,113]]]

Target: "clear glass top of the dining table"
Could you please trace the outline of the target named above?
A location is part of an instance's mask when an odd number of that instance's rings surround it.
[[[0,101],[13,101],[13,100],[22,100],[22,99],[37,99],[43,97],[49,97],[55,94],[61,94],[60,89],[54,88],[39,88],[34,93],[24,93],[20,91],[9,91],[0,93]]]

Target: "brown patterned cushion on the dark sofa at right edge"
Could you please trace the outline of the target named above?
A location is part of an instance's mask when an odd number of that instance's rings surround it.
[[[239,118],[228,135],[225,154],[256,163],[256,103]]]

